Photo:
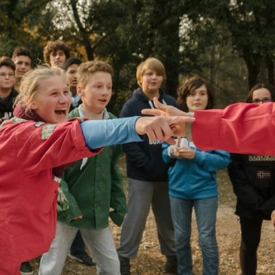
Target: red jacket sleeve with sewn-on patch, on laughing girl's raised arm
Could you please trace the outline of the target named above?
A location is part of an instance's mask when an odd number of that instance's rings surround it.
[[[102,148],[90,151],[80,128],[80,120],[59,124],[21,122],[5,129],[12,138],[17,160],[25,173],[45,170],[96,155]]]

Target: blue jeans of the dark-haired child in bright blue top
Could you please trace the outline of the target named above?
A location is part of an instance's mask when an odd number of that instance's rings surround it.
[[[199,245],[203,256],[203,275],[218,275],[219,250],[216,239],[218,197],[190,200],[170,196],[170,203],[175,230],[178,274],[192,275],[190,236],[194,207],[199,230]]]

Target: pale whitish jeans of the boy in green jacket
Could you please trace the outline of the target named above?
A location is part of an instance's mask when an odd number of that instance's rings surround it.
[[[56,236],[49,252],[43,254],[41,258],[39,275],[61,274],[78,230],[97,264],[98,275],[120,275],[120,261],[109,226],[102,230],[86,230],[73,228],[60,221],[57,221]]]

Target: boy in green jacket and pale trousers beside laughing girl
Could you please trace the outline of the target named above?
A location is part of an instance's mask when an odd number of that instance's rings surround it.
[[[69,118],[115,118],[105,108],[111,98],[112,76],[113,69],[107,63],[82,63],[77,73],[77,92],[83,104],[69,113]],[[120,145],[108,146],[98,155],[80,159],[65,170],[61,186],[69,208],[58,212],[56,237],[50,251],[41,258],[39,275],[61,274],[78,230],[93,255],[98,274],[120,274],[109,217],[120,226],[126,214],[123,177],[117,167],[121,153]]]

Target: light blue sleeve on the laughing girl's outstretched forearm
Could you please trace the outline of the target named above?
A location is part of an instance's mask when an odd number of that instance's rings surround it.
[[[137,118],[118,118],[114,120],[86,120],[80,124],[89,149],[122,144],[126,142],[142,142],[135,132]]]

